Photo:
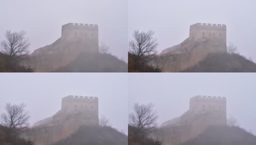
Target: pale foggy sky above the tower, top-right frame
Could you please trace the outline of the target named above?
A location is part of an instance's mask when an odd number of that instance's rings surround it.
[[[227,41],[256,61],[256,0],[128,0],[128,40],[154,30],[158,51],[183,42],[194,23],[226,24]]]

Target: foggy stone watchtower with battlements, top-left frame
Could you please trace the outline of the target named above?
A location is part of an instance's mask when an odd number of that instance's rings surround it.
[[[68,23],[62,26],[62,40],[80,41],[98,52],[98,25]]]

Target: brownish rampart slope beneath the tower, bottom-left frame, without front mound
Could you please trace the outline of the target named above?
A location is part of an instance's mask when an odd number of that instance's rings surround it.
[[[36,122],[22,136],[35,141],[36,145],[51,145],[78,131],[81,126],[97,126],[96,118],[88,112],[57,112]]]

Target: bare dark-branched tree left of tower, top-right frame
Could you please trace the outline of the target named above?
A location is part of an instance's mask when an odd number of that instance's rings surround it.
[[[129,42],[129,53],[136,55],[138,58],[145,58],[157,53],[157,39],[153,38],[154,31],[133,32],[133,39]]]

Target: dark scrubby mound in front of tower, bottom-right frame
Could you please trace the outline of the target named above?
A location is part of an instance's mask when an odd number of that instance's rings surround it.
[[[216,126],[181,145],[256,145],[256,136],[239,127]]]

